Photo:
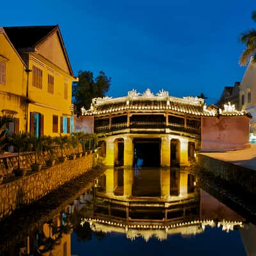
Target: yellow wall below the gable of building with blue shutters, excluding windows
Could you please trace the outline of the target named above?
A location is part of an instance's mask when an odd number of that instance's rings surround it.
[[[61,116],[71,118],[72,115],[70,106],[72,103],[72,81],[74,77],[34,53],[29,55],[29,69],[33,70],[33,66],[42,70],[42,89],[32,85],[33,72],[31,72],[29,74],[29,99],[33,103],[29,104],[29,113],[37,112],[43,114],[44,134],[56,136],[61,132]],[[54,77],[53,93],[48,92],[48,74]],[[67,99],[65,99],[64,92],[65,84],[67,84]],[[58,132],[52,132],[52,115],[58,115]]]

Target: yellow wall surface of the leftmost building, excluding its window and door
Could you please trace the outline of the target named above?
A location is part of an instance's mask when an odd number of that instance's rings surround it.
[[[26,67],[1,31],[0,45],[0,61],[6,64],[6,83],[0,84],[0,116],[3,116],[3,109],[17,111],[15,118],[19,118],[19,129],[25,131],[26,108],[20,104],[20,95],[26,96]]]

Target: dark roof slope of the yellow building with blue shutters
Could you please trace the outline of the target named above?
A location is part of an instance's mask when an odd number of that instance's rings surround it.
[[[4,27],[4,31],[16,49],[33,47],[57,26]]]

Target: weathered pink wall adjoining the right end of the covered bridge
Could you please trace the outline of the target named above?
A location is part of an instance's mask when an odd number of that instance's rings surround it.
[[[247,116],[202,117],[202,151],[237,150],[249,147]]]

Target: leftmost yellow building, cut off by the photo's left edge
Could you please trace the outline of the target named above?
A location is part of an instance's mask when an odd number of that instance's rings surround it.
[[[10,132],[26,129],[26,65],[0,28],[0,116],[15,118]]]

